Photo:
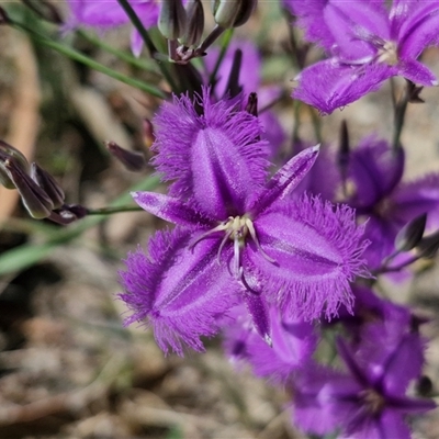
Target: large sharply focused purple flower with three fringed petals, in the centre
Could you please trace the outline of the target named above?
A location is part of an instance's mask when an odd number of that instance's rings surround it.
[[[230,301],[235,302],[235,292],[240,291],[238,302],[246,304],[257,331],[270,342],[270,303],[278,304],[285,318],[306,320],[322,313],[330,318],[341,303],[351,307],[349,283],[356,275],[368,274],[362,260],[368,241],[350,207],[318,198],[290,196],[313,166],[318,147],[293,157],[266,181],[267,145],[259,139],[258,121],[237,110],[240,105],[236,103],[235,99],[212,104],[205,90],[196,102],[183,97],[165,104],[156,119],[154,148],[158,170],[164,179],[172,180],[170,195],[136,192],[133,196],[146,211],[180,227],[169,234],[169,255],[178,257],[171,266],[155,264],[159,266],[157,291],[164,297],[173,297],[178,291],[179,303],[189,309],[192,303],[204,303],[203,296],[217,278],[224,283],[222,291],[227,289],[234,296]],[[175,236],[181,230],[184,239]],[[170,304],[169,299],[156,302],[156,293],[149,289],[143,294],[153,305],[140,311],[137,285],[138,278],[149,270],[144,267],[146,261],[136,264],[128,259],[128,269],[122,274],[127,292],[123,299],[138,309],[135,320],[155,318],[151,309],[161,314],[160,307]],[[167,290],[168,271],[176,277],[172,291]],[[204,288],[189,281],[200,272],[206,277]],[[211,300],[214,309],[204,309],[206,322],[227,315],[224,301],[216,307]],[[206,334],[209,324],[201,323],[202,308],[196,316],[203,328],[198,335],[212,335],[215,330]],[[187,329],[179,328],[185,322],[177,317],[167,322],[169,330],[185,341]],[[188,339],[191,347],[201,349]]]

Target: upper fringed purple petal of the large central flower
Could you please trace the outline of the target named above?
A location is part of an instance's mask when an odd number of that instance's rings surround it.
[[[204,89],[195,103],[188,97],[165,103],[155,120],[154,162],[165,180],[176,180],[170,194],[217,219],[243,214],[248,193],[266,181],[268,143],[241,105],[236,99],[211,103]]]

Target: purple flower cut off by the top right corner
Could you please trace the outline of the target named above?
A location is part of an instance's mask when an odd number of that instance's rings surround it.
[[[345,106],[393,76],[436,86],[435,75],[416,59],[439,43],[439,1],[289,0],[306,37],[330,55],[297,77],[293,97],[324,113]]]

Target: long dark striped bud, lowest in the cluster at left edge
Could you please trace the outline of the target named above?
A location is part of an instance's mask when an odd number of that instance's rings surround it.
[[[54,204],[46,192],[22,170],[14,158],[8,159],[3,165],[27,212],[37,219],[49,216]]]

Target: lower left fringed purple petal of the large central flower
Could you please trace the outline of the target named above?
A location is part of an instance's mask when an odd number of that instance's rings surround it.
[[[189,249],[192,235],[176,228],[149,240],[149,255],[130,254],[121,271],[120,294],[134,322],[153,326],[158,346],[182,356],[183,346],[203,351],[201,336],[218,331],[218,318],[238,302],[240,288],[224,263],[217,262],[217,243],[206,239]],[[224,250],[225,251],[225,250]]]

